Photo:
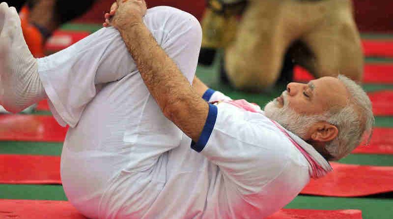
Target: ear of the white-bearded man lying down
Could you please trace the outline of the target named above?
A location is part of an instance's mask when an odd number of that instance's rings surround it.
[[[317,122],[311,129],[311,139],[314,141],[329,142],[338,135],[338,128],[327,122]]]

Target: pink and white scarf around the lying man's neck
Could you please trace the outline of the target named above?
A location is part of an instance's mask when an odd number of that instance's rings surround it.
[[[258,105],[252,104],[247,102],[244,99],[240,100],[230,100],[230,101],[224,101],[225,103],[232,104],[238,108],[244,109],[246,111],[250,111],[253,113],[260,113],[261,110]],[[258,110],[259,108],[259,110]],[[282,133],[284,133],[288,139],[292,142],[292,144],[303,154],[303,156],[306,157],[307,161],[309,161],[309,164],[311,166],[311,170],[309,170],[309,174],[313,179],[320,178],[322,176],[325,176],[327,171],[318,163],[315,161],[315,159],[307,153],[302,146],[300,146],[293,138],[284,130],[284,128],[281,127],[276,121],[271,120],[274,125],[276,125]]]

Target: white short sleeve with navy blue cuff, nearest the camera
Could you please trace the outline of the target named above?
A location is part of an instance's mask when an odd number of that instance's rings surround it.
[[[191,145],[242,194],[259,192],[287,163],[280,146],[285,140],[273,123],[263,115],[250,120],[247,113],[226,103],[210,104],[201,136]]]

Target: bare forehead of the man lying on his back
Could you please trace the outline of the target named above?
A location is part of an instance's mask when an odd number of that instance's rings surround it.
[[[334,77],[322,77],[309,83],[313,88],[314,100],[322,104],[323,108],[332,106],[345,106],[348,100],[348,92],[344,84]]]

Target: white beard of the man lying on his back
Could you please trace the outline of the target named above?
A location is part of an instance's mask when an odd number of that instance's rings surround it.
[[[302,115],[295,112],[288,106],[286,95],[287,93],[283,92],[284,106],[282,108],[279,107],[280,103],[277,98],[266,104],[264,108],[265,116],[297,136],[304,138],[311,125],[323,120],[323,118],[321,115]]]

